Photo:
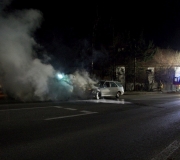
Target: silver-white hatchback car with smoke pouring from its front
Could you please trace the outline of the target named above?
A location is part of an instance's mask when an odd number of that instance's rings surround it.
[[[113,96],[119,98],[124,94],[124,87],[118,81],[101,80],[92,89],[91,94],[96,99]]]

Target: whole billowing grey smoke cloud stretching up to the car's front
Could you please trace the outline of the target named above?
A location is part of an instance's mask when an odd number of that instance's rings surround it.
[[[83,98],[86,87],[95,83],[86,71],[58,80],[53,66],[37,58],[33,34],[41,20],[42,13],[34,9],[0,16],[0,84],[23,101]]]

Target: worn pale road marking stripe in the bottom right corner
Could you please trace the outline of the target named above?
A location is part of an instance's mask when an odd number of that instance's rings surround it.
[[[155,158],[151,160],[167,160],[179,147],[180,147],[180,142],[175,140],[162,152],[160,152]]]

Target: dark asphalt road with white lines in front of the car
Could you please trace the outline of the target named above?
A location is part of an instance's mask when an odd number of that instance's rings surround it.
[[[0,104],[0,159],[180,159],[180,95]]]

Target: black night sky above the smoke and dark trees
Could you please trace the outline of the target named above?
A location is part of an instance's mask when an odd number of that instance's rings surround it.
[[[71,47],[78,46],[82,41],[84,46],[90,47],[95,24],[96,36],[101,35],[96,43],[100,45],[110,44],[113,33],[128,31],[132,35],[143,32],[144,38],[153,41],[157,47],[180,50],[178,0],[37,2],[38,0],[14,0],[7,6],[6,11],[31,8],[40,10],[43,14],[42,25],[34,37],[54,57],[73,54]]]

